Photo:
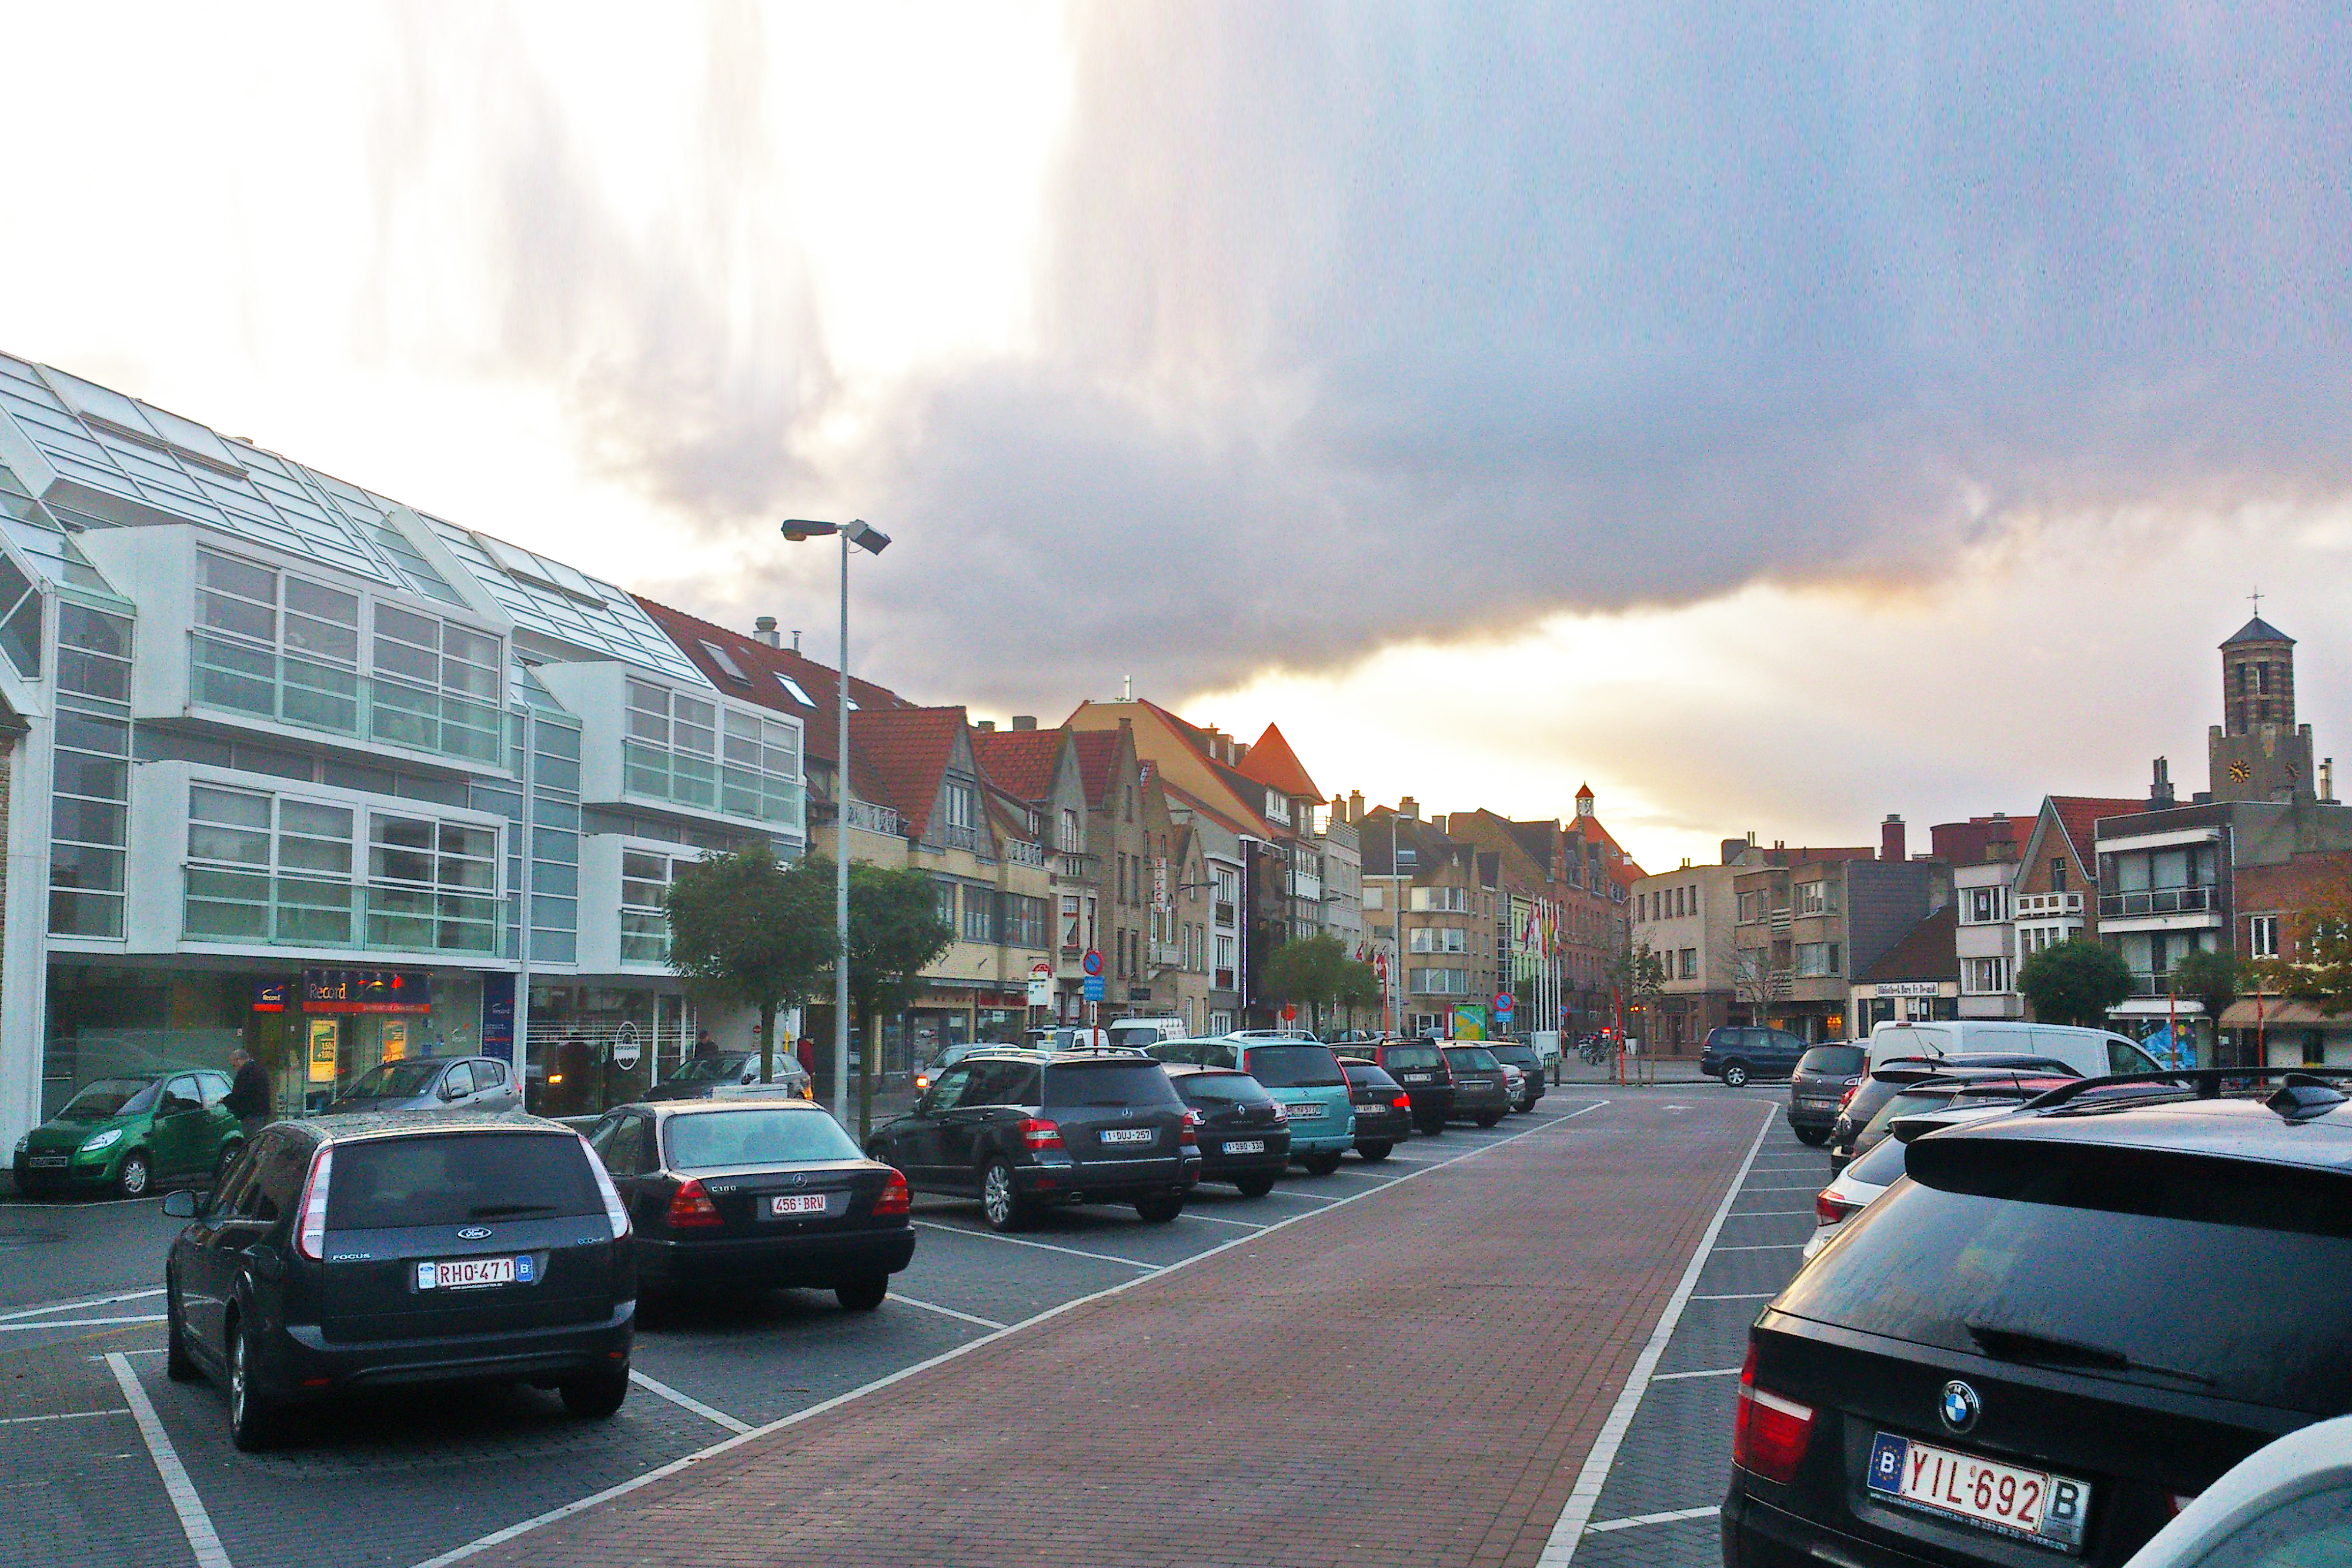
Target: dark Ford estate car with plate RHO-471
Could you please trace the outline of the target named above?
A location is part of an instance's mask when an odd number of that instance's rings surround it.
[[[628,1211],[555,1121],[280,1121],[165,1213],[193,1220],[165,1262],[167,1368],[228,1385],[238,1448],[287,1406],[397,1382],[532,1382],[590,1418],[628,1396]]]

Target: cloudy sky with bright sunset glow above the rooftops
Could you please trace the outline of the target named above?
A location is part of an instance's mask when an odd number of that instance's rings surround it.
[[[2324,7],[0,0],[0,348],[673,604],[1646,865],[2352,679]],[[2347,745],[2352,762],[2352,745]]]

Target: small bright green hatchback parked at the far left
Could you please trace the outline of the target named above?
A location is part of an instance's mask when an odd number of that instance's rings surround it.
[[[82,1084],[64,1110],[16,1140],[16,1192],[120,1192],[205,1182],[245,1145],[212,1070]]]

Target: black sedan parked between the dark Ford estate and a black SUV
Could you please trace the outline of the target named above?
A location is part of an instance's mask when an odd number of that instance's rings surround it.
[[[873,1312],[915,1258],[906,1178],[807,1100],[621,1105],[588,1147],[628,1204],[644,1295],[804,1288]]]

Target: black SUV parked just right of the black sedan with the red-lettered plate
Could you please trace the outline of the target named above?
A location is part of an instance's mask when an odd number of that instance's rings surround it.
[[[974,1051],[866,1152],[917,1192],[978,1197],[990,1229],[1021,1229],[1047,1204],[1134,1204],[1167,1225],[1200,1180],[1200,1138],[1167,1070],[1120,1048]]]

